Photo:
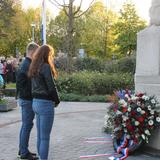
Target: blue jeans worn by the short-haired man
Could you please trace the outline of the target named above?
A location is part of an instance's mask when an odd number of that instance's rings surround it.
[[[19,151],[23,156],[29,152],[28,143],[35,114],[32,109],[32,101],[19,99],[19,105],[21,106],[22,113],[22,126],[19,135]]]

